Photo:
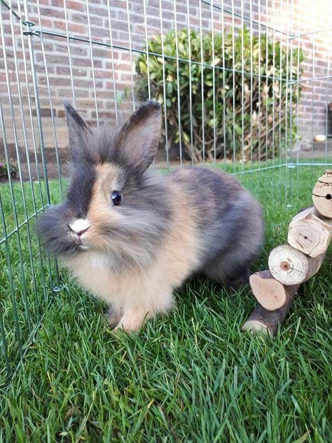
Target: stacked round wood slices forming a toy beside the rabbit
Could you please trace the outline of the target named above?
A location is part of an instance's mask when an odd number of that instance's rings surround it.
[[[332,170],[319,177],[312,191],[314,206],[291,220],[288,244],[270,252],[268,271],[250,276],[258,306],[242,329],[275,335],[300,284],[319,271],[332,238]]]

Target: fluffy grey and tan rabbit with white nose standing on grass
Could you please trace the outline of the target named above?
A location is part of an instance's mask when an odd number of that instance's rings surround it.
[[[71,151],[67,200],[38,221],[46,250],[109,305],[109,323],[137,331],[174,306],[195,273],[237,287],[263,243],[258,203],[235,177],[199,167],[149,168],[161,107],[141,105],[120,129],[90,127],[64,101]]]

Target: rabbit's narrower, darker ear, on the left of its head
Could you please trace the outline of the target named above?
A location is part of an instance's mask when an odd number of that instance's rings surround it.
[[[90,128],[67,100],[64,100],[63,104],[67,118],[71,158],[76,162],[83,154],[85,136],[87,132],[90,132]]]

